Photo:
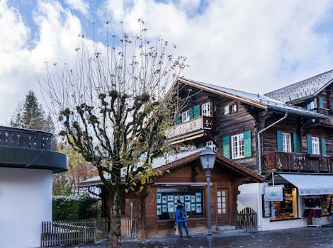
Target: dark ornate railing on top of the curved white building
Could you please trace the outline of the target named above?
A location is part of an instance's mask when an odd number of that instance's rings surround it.
[[[52,134],[0,126],[0,146],[51,150]]]

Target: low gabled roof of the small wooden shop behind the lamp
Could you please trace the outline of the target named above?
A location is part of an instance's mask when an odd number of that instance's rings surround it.
[[[177,167],[181,167],[182,165],[187,164],[188,162],[192,162],[193,160],[199,159],[198,155],[201,153],[203,149],[205,148],[199,148],[195,150],[189,150],[187,152],[180,152],[176,154],[169,154],[163,157],[157,157],[152,161],[152,168],[158,169],[159,171],[167,171],[169,169],[175,169]],[[251,181],[255,182],[264,181],[263,176],[260,176],[259,174],[256,174],[254,171],[251,171],[250,169],[247,169],[246,167],[243,167],[242,165],[233,162],[231,159],[223,157],[221,154],[216,154],[215,161],[220,164],[223,164],[228,169],[235,171],[235,173],[237,174],[249,177]],[[109,175],[105,176],[106,179],[110,179]],[[79,184],[80,187],[101,186],[101,185],[103,185],[103,182],[101,182],[99,176],[95,176],[94,178],[82,181]]]

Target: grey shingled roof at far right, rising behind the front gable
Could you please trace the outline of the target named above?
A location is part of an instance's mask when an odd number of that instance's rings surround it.
[[[266,96],[275,98],[285,103],[298,103],[317,95],[333,81],[333,70],[324,72],[310,79],[299,81],[276,91],[266,93]]]

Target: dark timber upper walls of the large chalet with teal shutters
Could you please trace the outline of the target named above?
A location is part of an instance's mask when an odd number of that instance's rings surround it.
[[[186,140],[179,140],[174,144],[179,147],[202,147],[202,144],[212,140],[216,145],[216,150],[220,154],[226,156],[224,149],[224,138],[229,139],[229,154],[227,157],[235,162],[244,165],[252,171],[259,171],[259,153],[258,153],[258,132],[268,127],[277,120],[283,118],[284,112],[271,111],[269,109],[260,108],[249,101],[247,98],[239,96],[224,96],[223,94],[213,94],[209,90],[206,91],[201,85],[193,85],[191,81],[181,80],[191,88],[195,96],[188,102],[188,107],[201,105],[210,102],[212,118],[215,118],[215,125],[210,130],[205,130],[201,137],[193,137],[191,135]],[[188,91],[186,87],[185,92]],[[295,106],[309,108],[311,101],[316,101],[317,108],[311,109],[312,112],[322,113],[327,115],[327,118],[311,118],[309,116],[288,113],[288,117],[281,123],[273,125],[273,127],[261,133],[261,159],[263,173],[270,169],[280,171],[319,171],[331,172],[333,153],[333,94],[332,86],[327,86],[322,89],[319,94],[301,101],[293,103]],[[236,107],[235,107],[236,106]],[[226,111],[225,108],[229,108]],[[186,109],[186,108],[185,108]],[[202,114],[202,111],[201,111]],[[191,120],[190,120],[191,121]],[[239,133],[249,132],[251,137],[251,154],[240,158],[233,158],[231,151],[231,137]],[[283,154],[283,151],[278,150],[278,132],[290,134],[291,149],[288,154]],[[319,138],[319,154],[310,156],[309,154],[309,137]],[[173,137],[173,140],[177,140]],[[297,145],[297,150],[295,149]],[[181,149],[179,149],[181,150]],[[284,160],[283,160],[284,159]],[[290,161],[291,163],[301,163],[297,167],[290,164],[281,165],[281,161]]]

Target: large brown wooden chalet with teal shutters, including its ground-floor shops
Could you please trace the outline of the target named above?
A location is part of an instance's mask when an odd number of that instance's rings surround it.
[[[312,208],[320,208],[324,224],[333,196],[332,81],[333,70],[259,95],[177,79],[174,87],[186,101],[176,106],[181,111],[166,136],[178,158],[160,164],[170,173],[145,193],[125,197],[123,214],[134,211],[140,237],[170,235],[180,198],[190,210],[191,231],[205,231],[205,174],[197,151],[211,147],[218,154],[211,180],[213,230],[236,225],[237,210],[246,207],[256,211],[258,230],[321,225],[305,215]],[[266,201],[276,184],[279,199]],[[311,200],[318,205],[309,206]]]

